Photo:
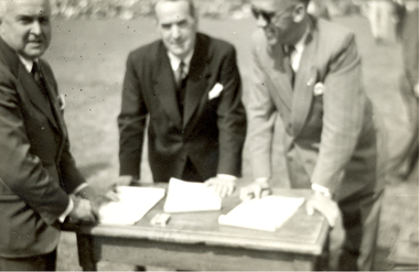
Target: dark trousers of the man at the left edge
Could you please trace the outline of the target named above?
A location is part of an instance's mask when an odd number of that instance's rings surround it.
[[[28,258],[0,257],[0,271],[55,271],[56,250]]]

